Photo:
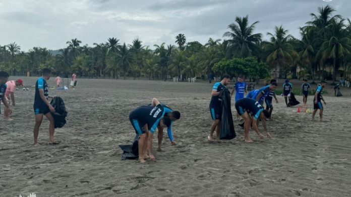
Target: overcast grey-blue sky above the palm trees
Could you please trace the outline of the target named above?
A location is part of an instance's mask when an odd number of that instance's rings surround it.
[[[250,24],[259,21],[255,33],[264,38],[280,25],[299,37],[310,13],[328,4],[351,18],[350,0],[0,0],[0,45],[60,49],[72,38],[91,46],[116,37],[153,46],[175,44],[179,33],[187,42],[206,43],[210,37],[223,39],[235,17],[246,15]]]

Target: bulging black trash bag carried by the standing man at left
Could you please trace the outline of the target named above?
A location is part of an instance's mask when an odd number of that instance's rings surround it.
[[[51,115],[55,120],[55,128],[62,128],[66,124],[67,111],[64,100],[60,96],[55,96],[50,105],[55,109],[55,112]]]

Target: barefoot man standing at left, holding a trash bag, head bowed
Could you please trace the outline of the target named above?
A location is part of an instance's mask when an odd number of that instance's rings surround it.
[[[34,146],[38,145],[38,134],[39,127],[43,120],[43,115],[50,121],[49,125],[49,144],[59,144],[53,139],[53,134],[55,131],[55,121],[50,112],[55,112],[55,109],[50,105],[48,98],[49,88],[47,86],[46,80],[49,80],[51,76],[51,70],[48,68],[43,69],[42,76],[35,83],[35,97],[34,97],[34,114],[35,114],[35,126],[34,126]]]

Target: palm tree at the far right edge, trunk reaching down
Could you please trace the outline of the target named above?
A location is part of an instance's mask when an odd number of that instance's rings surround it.
[[[351,39],[345,30],[344,19],[339,22],[333,22],[330,26],[330,39],[325,39],[318,55],[321,56],[321,62],[332,60],[333,62],[333,83],[336,81],[336,73],[340,64],[345,57],[351,55]]]

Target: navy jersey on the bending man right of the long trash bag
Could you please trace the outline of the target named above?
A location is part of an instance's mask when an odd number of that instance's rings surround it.
[[[240,110],[246,111],[251,116],[253,116],[256,120],[259,118],[261,112],[263,111],[263,107],[258,102],[249,98],[244,98],[239,100],[235,104],[235,106],[236,108],[238,107]]]

